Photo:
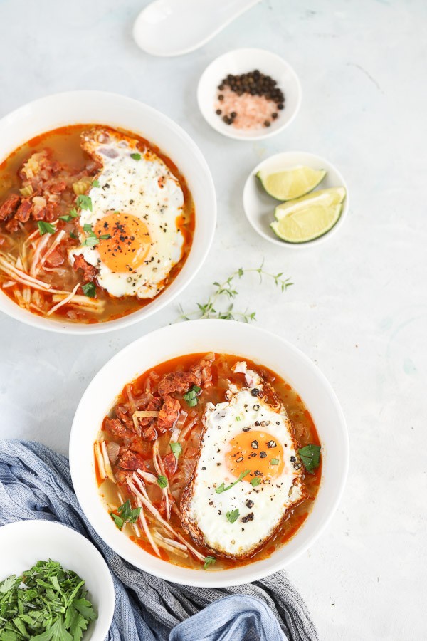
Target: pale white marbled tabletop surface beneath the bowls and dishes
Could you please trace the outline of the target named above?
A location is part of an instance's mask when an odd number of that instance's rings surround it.
[[[347,415],[347,489],[329,528],[289,568],[325,641],[427,638],[426,66],[422,0],[263,1],[200,51],[145,56],[132,43],[138,0],[0,1],[0,115],[60,90],[124,93],[164,111],[200,145],[218,192],[214,246],[190,291],[238,266],[284,271],[280,295],[249,279],[241,305],[322,368]],[[189,26],[190,28],[190,26]],[[300,115],[257,144],[209,129],[196,83],[238,46],[270,48],[300,75]],[[352,195],[330,242],[287,251],[246,222],[241,191],[260,159],[306,150],[334,162]],[[88,381],[122,346],[174,321],[176,306],[130,330],[66,338],[0,318],[1,434],[67,451]]]

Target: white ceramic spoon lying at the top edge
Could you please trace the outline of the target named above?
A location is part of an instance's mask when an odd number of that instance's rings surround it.
[[[181,56],[204,45],[260,0],[155,0],[135,20],[137,45],[152,56]]]

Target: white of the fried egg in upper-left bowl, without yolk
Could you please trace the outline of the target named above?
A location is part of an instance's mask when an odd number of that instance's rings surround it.
[[[95,130],[96,132],[96,130]],[[101,142],[102,141],[102,142]],[[88,196],[92,211],[80,211],[80,226],[95,227],[107,214],[121,212],[142,219],[151,237],[149,254],[144,263],[132,271],[112,271],[102,262],[97,247],[84,246],[86,235],[80,232],[82,246],[70,250],[70,261],[78,254],[97,268],[97,281],[111,296],[154,298],[165,286],[165,279],[182,256],[184,238],[176,226],[182,213],[184,194],[179,181],[154,152],[139,151],[132,142],[115,138],[111,133],[104,140],[86,137],[91,155],[102,162],[97,175],[99,187],[92,187]],[[140,160],[132,158],[138,152]]]

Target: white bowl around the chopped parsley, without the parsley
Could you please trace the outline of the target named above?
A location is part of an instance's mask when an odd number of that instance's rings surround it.
[[[114,584],[95,546],[75,530],[52,521],[17,521],[0,528],[0,581],[50,558],[85,580],[97,619],[83,634],[83,641],[104,641],[114,613]]]

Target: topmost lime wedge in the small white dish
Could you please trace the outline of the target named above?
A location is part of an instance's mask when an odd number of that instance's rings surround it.
[[[261,170],[256,175],[270,196],[278,200],[293,200],[315,189],[325,178],[326,172],[311,167],[293,167],[274,174]]]

